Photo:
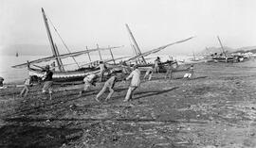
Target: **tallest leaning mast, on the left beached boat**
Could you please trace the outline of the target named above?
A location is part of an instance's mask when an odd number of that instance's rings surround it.
[[[56,58],[59,70],[61,72],[64,72],[64,67],[63,67],[63,64],[62,64],[62,60],[61,60],[61,58],[58,58],[59,51],[56,48],[56,46],[55,46],[55,44],[54,44],[54,42],[52,40],[52,36],[50,34],[50,29],[49,29],[49,25],[47,23],[47,18],[46,18],[46,14],[45,14],[44,8],[42,8],[42,13],[43,13],[44,22],[45,22],[45,25],[46,25],[46,32],[47,32],[48,40],[50,42],[51,52],[52,52],[53,56]]]

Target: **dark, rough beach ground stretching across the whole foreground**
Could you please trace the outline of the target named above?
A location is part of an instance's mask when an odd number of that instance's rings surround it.
[[[155,74],[123,103],[129,82],[111,100],[94,100],[103,84],[78,97],[53,99],[33,87],[0,90],[0,147],[256,147],[256,61],[201,63],[195,77]]]

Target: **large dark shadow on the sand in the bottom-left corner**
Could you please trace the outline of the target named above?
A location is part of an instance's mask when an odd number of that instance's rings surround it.
[[[82,129],[5,125],[0,128],[0,147],[61,147],[82,137]]]

